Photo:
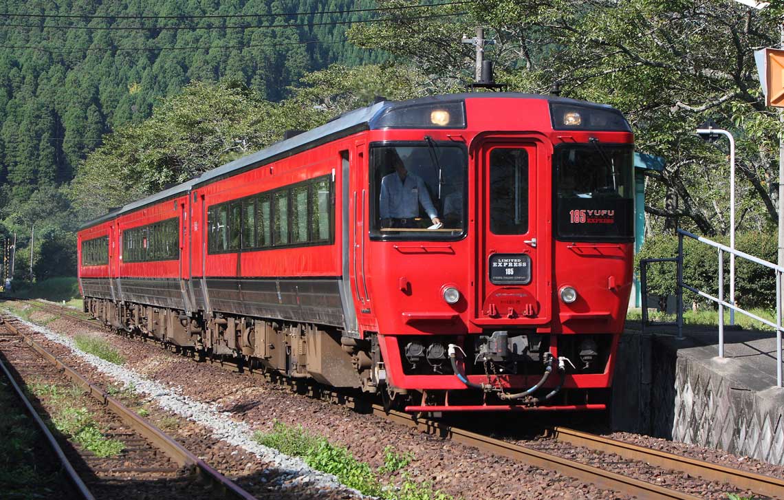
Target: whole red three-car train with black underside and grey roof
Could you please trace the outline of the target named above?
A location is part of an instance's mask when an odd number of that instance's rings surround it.
[[[82,226],[85,311],[406,411],[605,408],[633,135],[506,92],[380,102]]]

